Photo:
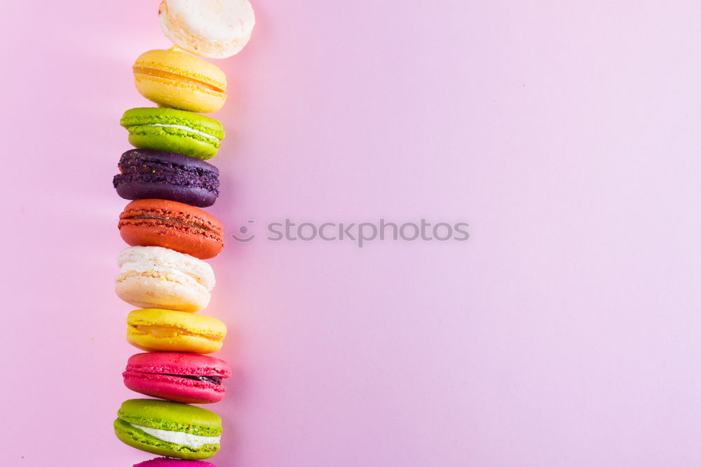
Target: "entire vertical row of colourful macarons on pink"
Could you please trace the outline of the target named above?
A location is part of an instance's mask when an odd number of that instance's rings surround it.
[[[122,116],[135,148],[123,153],[113,181],[130,200],[117,224],[129,246],[117,257],[115,291],[138,307],[127,316],[127,340],[143,351],[128,359],[124,384],[151,398],[126,400],[114,431],[165,456],[139,466],[212,467],[198,459],[219,450],[222,419],[190,404],[222,400],[231,376],[225,361],[207,355],[222,348],[226,326],[198,314],[215,286],[204,260],[224,247],[222,223],[201,209],[219,196],[219,170],[205,160],[219,151],[224,127],[201,113],[224,105],[226,75],[200,57],[238,53],[255,19],[248,0],[163,0],[158,16],[175,47],[149,50],[133,66],[137,90],[157,107]]]

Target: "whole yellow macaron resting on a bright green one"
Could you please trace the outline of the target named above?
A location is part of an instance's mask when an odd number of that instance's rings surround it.
[[[207,113],[226,100],[224,71],[177,47],[144,52],[132,69],[137,90],[158,106]]]

